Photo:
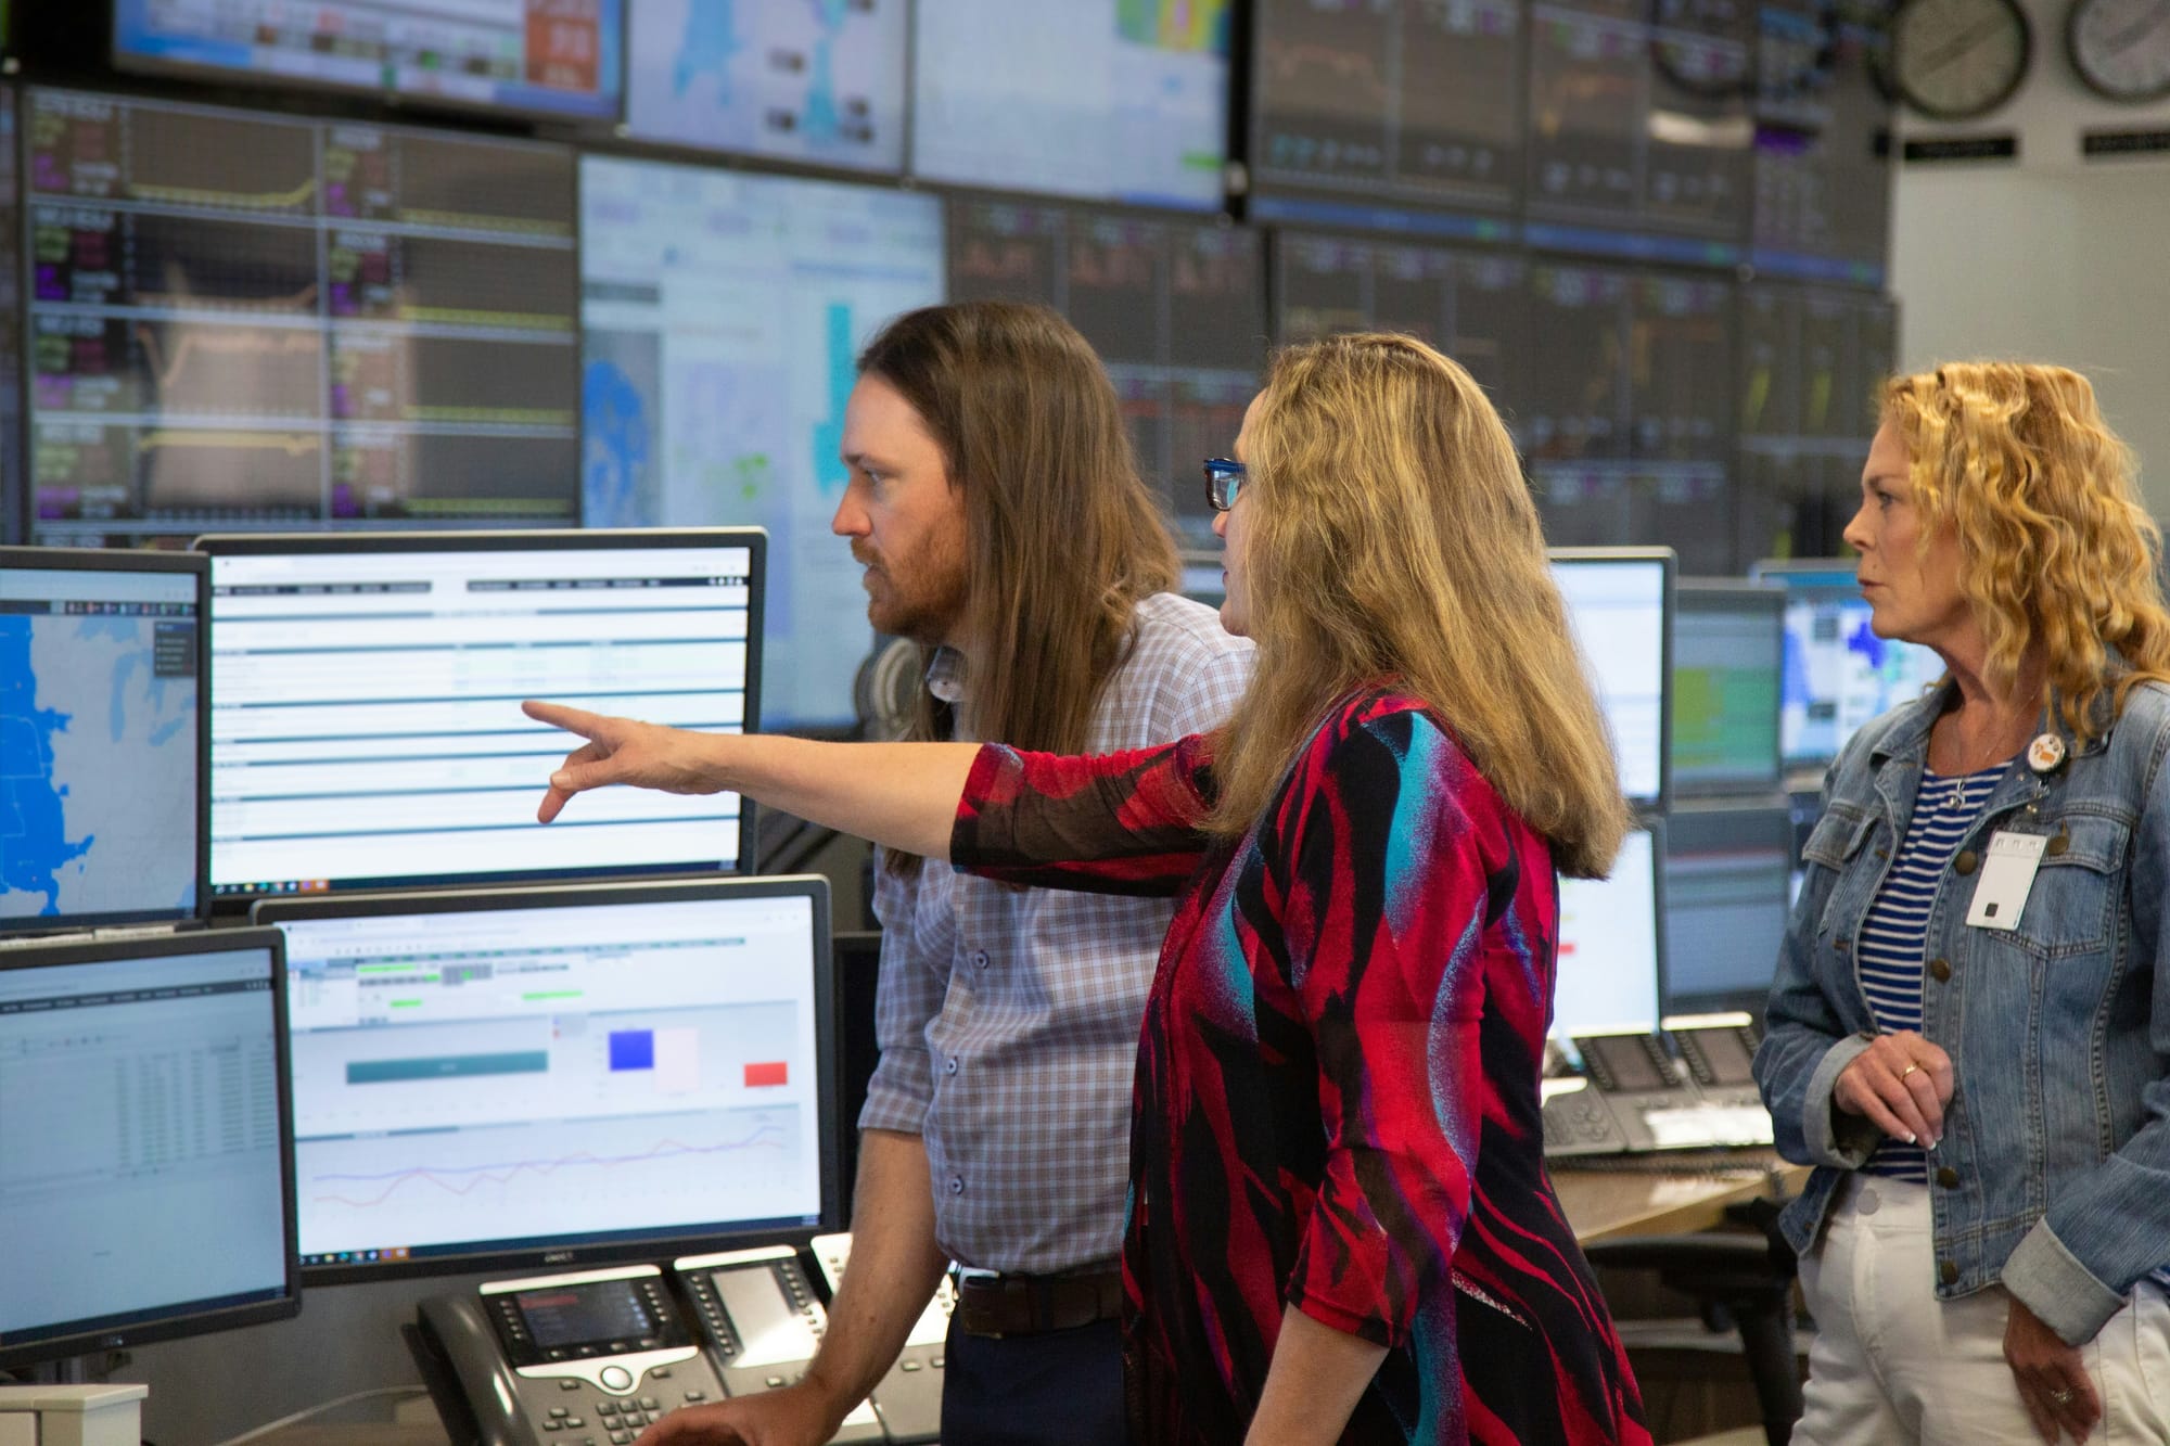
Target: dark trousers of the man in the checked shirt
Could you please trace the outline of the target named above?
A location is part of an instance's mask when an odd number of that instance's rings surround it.
[[[1122,1327],[1046,1335],[950,1327],[942,1446],[1122,1446]]]

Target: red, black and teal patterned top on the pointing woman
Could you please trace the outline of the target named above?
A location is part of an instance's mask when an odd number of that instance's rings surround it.
[[[1239,1442],[1282,1307],[1387,1346],[1345,1442],[1649,1442],[1545,1177],[1558,890],[1415,699],[1348,699],[1235,845],[1211,743],[990,745],[953,858],[1180,895],[1146,1003],[1124,1320],[1133,1439]]]

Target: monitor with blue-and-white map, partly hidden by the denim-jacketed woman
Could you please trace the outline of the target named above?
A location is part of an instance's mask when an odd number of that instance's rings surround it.
[[[1758,562],[1753,580],[1786,593],[1786,686],[1779,708],[1786,766],[1827,766],[1871,719],[1912,703],[1944,675],[1916,643],[1879,638],[1853,562]]]

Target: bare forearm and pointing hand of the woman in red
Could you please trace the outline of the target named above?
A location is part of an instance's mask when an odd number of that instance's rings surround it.
[[[976,743],[809,743],[775,734],[694,734],[560,703],[521,703],[586,743],[549,777],[536,819],[608,784],[664,792],[742,792],[883,847],[948,858]]]

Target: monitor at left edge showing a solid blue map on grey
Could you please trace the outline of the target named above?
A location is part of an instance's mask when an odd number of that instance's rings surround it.
[[[208,910],[208,575],[0,547],[0,934]]]

